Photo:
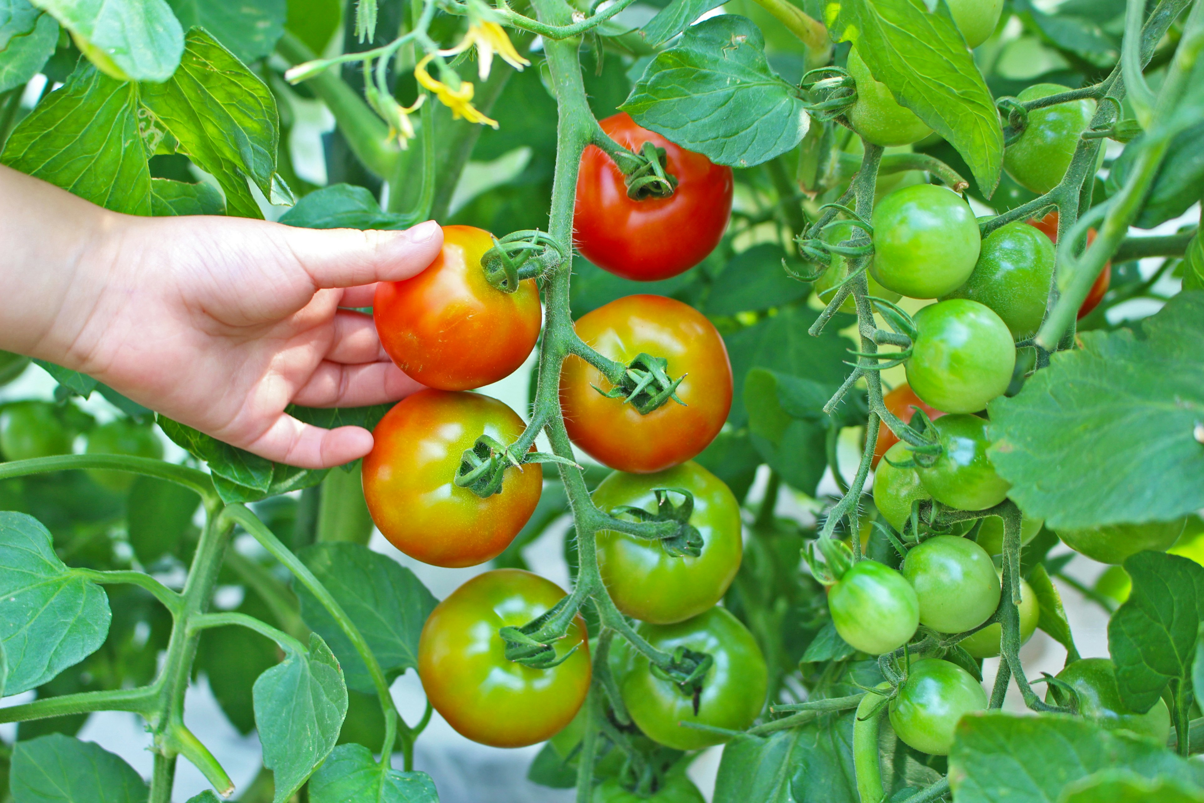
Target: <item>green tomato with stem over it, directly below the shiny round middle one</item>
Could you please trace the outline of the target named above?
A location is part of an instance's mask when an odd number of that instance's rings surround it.
[[[1011,484],[987,457],[986,426],[978,415],[942,415],[933,421],[940,455],[931,466],[916,467],[932,498],[960,510],[985,510],[1007,498]]]

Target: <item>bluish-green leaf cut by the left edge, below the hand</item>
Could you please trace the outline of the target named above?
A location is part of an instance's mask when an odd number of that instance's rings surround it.
[[[78,663],[108,634],[105,590],[67,568],[49,531],[24,513],[0,512],[0,600],[8,695]]]

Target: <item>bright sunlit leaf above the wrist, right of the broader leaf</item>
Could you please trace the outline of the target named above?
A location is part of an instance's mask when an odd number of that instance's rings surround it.
[[[187,43],[171,81],[142,85],[142,102],[178,140],[178,150],[218,179],[230,214],[261,218],[247,181],[271,200],[279,140],[276,100],[206,31],[188,31]]]

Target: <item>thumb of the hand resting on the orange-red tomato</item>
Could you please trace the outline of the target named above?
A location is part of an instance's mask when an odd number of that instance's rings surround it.
[[[405,231],[279,226],[281,247],[309,274],[315,289],[400,282],[423,272],[443,247],[433,220]]]

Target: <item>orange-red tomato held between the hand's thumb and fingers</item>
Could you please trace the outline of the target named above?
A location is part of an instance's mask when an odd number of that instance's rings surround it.
[[[443,226],[443,250],[403,282],[380,282],[372,315],[385,353],[412,379],[471,390],[504,379],[531,354],[542,315],[535,279],[503,293],[485,279],[488,231]]]

